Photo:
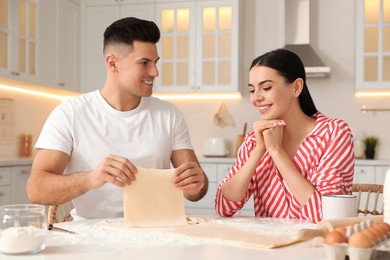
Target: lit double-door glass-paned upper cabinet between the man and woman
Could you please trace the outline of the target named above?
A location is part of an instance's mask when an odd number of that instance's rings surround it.
[[[239,90],[243,1],[156,1],[160,76],[156,92]]]

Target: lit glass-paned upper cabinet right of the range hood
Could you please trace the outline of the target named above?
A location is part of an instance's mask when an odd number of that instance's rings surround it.
[[[356,1],[356,88],[390,89],[390,0]]]

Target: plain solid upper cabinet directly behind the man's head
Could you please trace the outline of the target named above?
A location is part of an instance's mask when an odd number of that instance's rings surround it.
[[[86,0],[82,2],[81,92],[103,86],[106,67],[103,33],[114,21],[134,16],[154,20],[153,0]]]

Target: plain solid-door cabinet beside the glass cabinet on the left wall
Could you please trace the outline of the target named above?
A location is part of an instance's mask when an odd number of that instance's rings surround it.
[[[42,83],[80,91],[80,2],[41,0],[44,17],[45,62]]]

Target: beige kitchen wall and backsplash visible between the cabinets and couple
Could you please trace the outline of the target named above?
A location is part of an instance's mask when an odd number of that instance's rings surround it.
[[[230,140],[234,149],[235,140],[241,134],[244,123],[248,129],[259,118],[249,104],[247,75],[250,62],[266,51],[284,45],[283,0],[245,0],[245,36],[242,72],[243,98],[225,100],[235,120],[235,126],[221,128],[213,124],[213,115],[222,100],[172,101],[183,112],[199,156],[202,155],[206,137],[223,136]],[[375,134],[380,137],[376,157],[390,159],[390,112],[362,113],[362,105],[368,107],[390,107],[389,98],[356,98],[355,82],[355,0],[311,0],[311,38],[324,63],[331,67],[329,78],[307,80],[317,108],[329,117],[344,119],[357,137]],[[390,86],[389,86],[390,89]],[[0,157],[16,156],[17,135],[31,132],[34,140],[58,100],[6,92],[0,96],[14,97],[16,102],[16,135],[12,145],[0,145]],[[233,156],[233,154],[231,154]]]

